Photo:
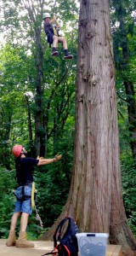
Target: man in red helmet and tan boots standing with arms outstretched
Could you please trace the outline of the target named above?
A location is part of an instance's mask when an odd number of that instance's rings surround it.
[[[54,159],[34,159],[26,157],[26,149],[22,145],[15,145],[12,148],[12,153],[15,156],[16,181],[18,188],[14,190],[14,195],[17,198],[15,202],[14,214],[11,218],[11,225],[6,245],[8,247],[34,247],[34,244],[26,240],[26,228],[28,217],[32,212],[31,208],[31,189],[33,182],[33,172],[35,166],[42,166],[53,163],[61,159],[61,155],[56,155]],[[20,233],[16,240],[15,228],[18,217],[20,218]]]

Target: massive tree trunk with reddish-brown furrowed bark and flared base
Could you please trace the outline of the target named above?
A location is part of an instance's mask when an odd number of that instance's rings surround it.
[[[76,88],[76,135],[71,189],[63,212],[42,238],[71,215],[80,231],[108,232],[132,253],[135,240],[122,201],[115,70],[108,0],[82,0]]]

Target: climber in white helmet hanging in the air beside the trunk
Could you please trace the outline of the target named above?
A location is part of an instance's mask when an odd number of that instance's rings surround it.
[[[56,16],[54,15],[53,19],[51,20],[50,15],[48,13],[45,13],[43,15],[43,20],[44,20],[44,31],[46,32],[46,35],[48,38],[49,47],[51,47],[51,44],[53,44],[52,56],[57,56],[59,54],[56,48],[58,43],[62,43],[63,49],[65,51],[64,58],[72,59],[73,55],[71,55],[71,53],[68,52],[66,39],[59,36],[60,25],[56,20]]]

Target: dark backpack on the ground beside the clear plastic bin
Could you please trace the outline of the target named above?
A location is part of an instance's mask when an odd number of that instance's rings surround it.
[[[62,230],[66,221],[68,221],[68,226],[65,230],[65,234],[62,236]],[[51,253],[45,253],[44,255],[77,256],[78,245],[76,234],[78,232],[77,224],[73,218],[65,217],[62,219],[54,232],[54,250]]]

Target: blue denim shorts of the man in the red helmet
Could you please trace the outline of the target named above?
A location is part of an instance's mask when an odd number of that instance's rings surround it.
[[[23,187],[20,186],[15,190],[14,194],[17,197],[17,201],[15,202],[14,212],[26,212],[28,214],[31,214],[31,188],[31,185],[24,186],[24,195],[26,195],[28,198],[30,196],[30,199],[26,201],[21,201]]]

